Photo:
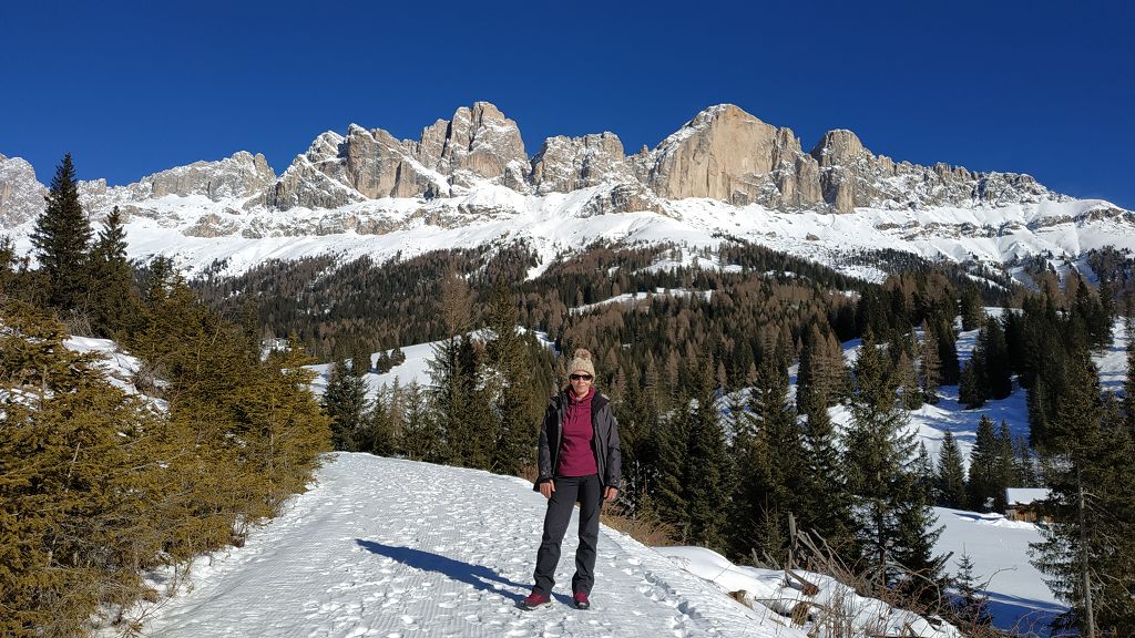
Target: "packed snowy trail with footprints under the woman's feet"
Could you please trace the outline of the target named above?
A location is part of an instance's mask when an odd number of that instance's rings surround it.
[[[802,636],[600,530],[592,608],[570,605],[575,518],[550,608],[526,612],[544,498],[521,479],[335,454],[245,547],[193,572],[145,636]]]

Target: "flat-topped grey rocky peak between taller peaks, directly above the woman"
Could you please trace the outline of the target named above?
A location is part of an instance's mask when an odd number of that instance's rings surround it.
[[[603,183],[637,184],[623,143],[611,132],[545,140],[532,158],[529,181],[537,193],[570,193]]]

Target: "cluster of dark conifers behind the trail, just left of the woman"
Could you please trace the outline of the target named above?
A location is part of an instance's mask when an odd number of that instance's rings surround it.
[[[436,314],[454,336],[435,346],[427,387],[395,383],[369,398],[370,354],[335,362],[323,405],[336,450],[507,475],[531,464],[537,423],[565,375],[546,343],[516,329],[516,307],[503,286],[481,314],[472,295],[456,274],[442,283]]]

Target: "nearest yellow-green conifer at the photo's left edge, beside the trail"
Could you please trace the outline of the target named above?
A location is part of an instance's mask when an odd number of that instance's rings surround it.
[[[9,301],[0,325],[0,635],[79,636],[107,591],[141,594],[162,548],[167,431],[43,311]]]

